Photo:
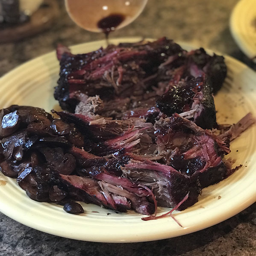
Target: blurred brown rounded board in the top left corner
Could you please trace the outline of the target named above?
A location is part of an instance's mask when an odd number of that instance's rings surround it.
[[[0,43],[44,31],[58,15],[56,0],[0,0]]]

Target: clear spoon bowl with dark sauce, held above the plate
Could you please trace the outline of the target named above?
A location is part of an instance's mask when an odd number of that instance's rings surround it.
[[[65,0],[71,19],[91,32],[109,33],[134,21],[147,0]]]

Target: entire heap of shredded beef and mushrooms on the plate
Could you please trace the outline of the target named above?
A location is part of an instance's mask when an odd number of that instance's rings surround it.
[[[166,38],[78,55],[59,46],[57,56],[54,95],[70,112],[0,110],[0,170],[31,199],[72,214],[83,212],[81,201],[152,215],[157,205],[192,206],[202,188],[237,169],[224,155],[255,119],[217,125],[222,56]]]

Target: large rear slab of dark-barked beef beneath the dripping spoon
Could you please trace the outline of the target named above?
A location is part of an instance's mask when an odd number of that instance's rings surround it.
[[[161,112],[184,112],[202,128],[217,126],[212,92],[227,74],[222,56],[209,56],[203,48],[187,52],[167,38],[77,55],[59,45],[57,56],[54,96],[62,109],[92,119],[136,117],[151,123]]]

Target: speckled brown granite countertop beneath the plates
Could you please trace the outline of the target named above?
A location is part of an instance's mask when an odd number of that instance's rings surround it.
[[[230,54],[256,68],[238,49],[229,30],[229,17],[237,0],[149,0],[132,24],[111,37],[163,35]],[[0,44],[0,76],[21,63],[65,45],[103,39],[103,35],[77,27],[61,7],[50,30],[23,41]],[[221,210],[221,209],[220,209]],[[170,238],[132,244],[75,241],[33,230],[0,214],[0,256],[255,256],[256,203],[227,221],[205,230]]]

